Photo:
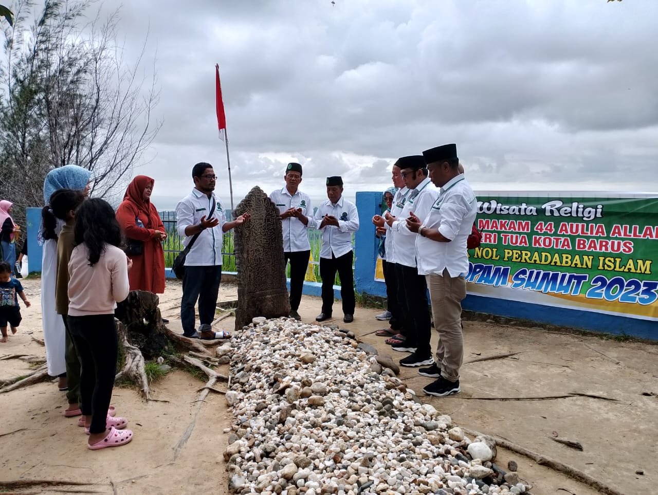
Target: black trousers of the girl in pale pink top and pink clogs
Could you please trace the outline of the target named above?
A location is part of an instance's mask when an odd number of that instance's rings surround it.
[[[89,432],[107,428],[114,375],[116,375],[116,324],[114,315],[69,316],[68,328],[80,355],[80,410],[91,416]]]

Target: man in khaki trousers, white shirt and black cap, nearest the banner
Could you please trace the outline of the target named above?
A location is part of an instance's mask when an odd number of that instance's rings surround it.
[[[459,172],[457,145],[438,146],[422,154],[432,182],[440,187],[440,194],[427,215],[410,215],[407,226],[412,232],[418,232],[418,273],[426,276],[430,289],[439,344],[436,363],[421,368],[418,373],[438,378],[423,391],[442,397],[461,391],[459,368],[464,357],[461,301],[466,297],[467,238],[475,221],[478,201],[465,176]]]

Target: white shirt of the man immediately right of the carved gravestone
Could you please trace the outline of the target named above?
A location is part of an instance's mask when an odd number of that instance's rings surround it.
[[[307,228],[313,226],[313,206],[311,205],[311,197],[308,194],[297,190],[295,194],[291,195],[288,188],[284,186],[281,190],[273,191],[270,194],[272,203],[279,209],[279,213],[295,208],[301,208],[301,213],[304,215],[309,223],[304,225],[301,220],[296,217],[289,217],[281,221],[284,236],[284,253],[295,253],[297,251],[309,251],[311,244],[309,243],[309,234]]]

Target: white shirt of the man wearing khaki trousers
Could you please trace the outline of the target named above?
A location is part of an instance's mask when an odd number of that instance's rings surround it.
[[[445,268],[451,277],[468,273],[466,243],[477,213],[478,200],[466,178],[458,175],[449,180],[422,224],[426,228],[438,228],[450,242],[417,236],[418,274],[441,275]]]

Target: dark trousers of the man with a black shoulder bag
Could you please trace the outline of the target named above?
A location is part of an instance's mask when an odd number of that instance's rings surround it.
[[[199,301],[199,323],[210,325],[215,319],[222,265],[210,267],[185,267],[183,297],[180,301],[180,322],[187,336],[196,331],[195,305]]]

